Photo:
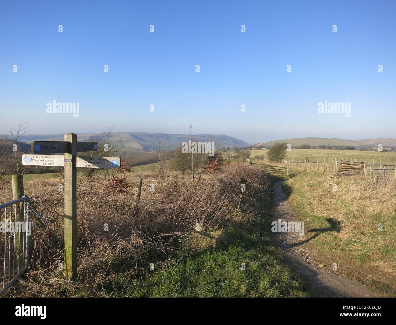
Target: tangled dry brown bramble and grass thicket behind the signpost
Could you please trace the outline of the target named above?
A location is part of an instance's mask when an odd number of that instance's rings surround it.
[[[161,184],[150,172],[127,173],[125,177],[128,188],[123,194],[113,194],[103,176],[78,180],[79,278],[73,283],[58,270],[63,262],[61,179],[25,182],[25,194],[50,226],[33,232],[29,281],[23,286],[24,292],[11,291],[11,295],[101,296],[103,288],[111,286],[122,270],[143,274],[148,256],[177,253],[181,242],[191,250],[221,245],[223,229],[248,223],[256,198],[268,188],[263,172],[246,165],[204,174],[199,182],[196,177],[192,181],[176,172],[169,172]],[[143,187],[137,201],[139,177],[143,177]],[[237,211],[241,183],[246,184],[246,192]],[[150,191],[150,184],[154,191]],[[0,194],[3,201],[11,199],[9,188]],[[205,236],[194,231],[196,223]]]

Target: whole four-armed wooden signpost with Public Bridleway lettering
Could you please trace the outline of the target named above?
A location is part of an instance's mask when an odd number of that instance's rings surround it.
[[[63,171],[63,238],[65,240],[65,275],[77,275],[77,167],[120,168],[119,157],[77,156],[77,152],[96,151],[97,142],[77,141],[74,133],[64,141],[33,141],[32,154],[23,155],[23,165],[61,166]],[[60,154],[61,155],[51,155]]]

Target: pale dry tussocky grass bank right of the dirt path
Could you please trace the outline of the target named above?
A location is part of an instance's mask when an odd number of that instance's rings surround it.
[[[333,184],[337,190],[333,191]],[[301,172],[284,186],[306,232],[322,250],[350,259],[373,279],[396,288],[396,184],[368,177]],[[379,224],[383,231],[379,231]]]

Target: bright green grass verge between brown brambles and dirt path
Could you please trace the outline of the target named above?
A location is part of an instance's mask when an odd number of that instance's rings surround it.
[[[309,297],[305,279],[290,269],[261,215],[244,229],[227,229],[215,244],[161,263],[140,279],[120,274],[105,292],[128,297]],[[196,234],[205,237],[205,234]],[[216,241],[215,241],[216,242]],[[163,265],[162,267],[158,265]],[[245,265],[246,269],[242,270]],[[158,270],[156,269],[158,267]]]

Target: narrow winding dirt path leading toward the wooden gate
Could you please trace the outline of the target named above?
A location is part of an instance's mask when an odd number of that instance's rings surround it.
[[[282,183],[274,184],[275,208],[270,214],[273,221],[297,221],[282,190]],[[381,297],[356,281],[340,277],[315,263],[314,249],[309,245],[310,235],[305,233],[277,233],[276,242],[286,253],[287,262],[308,279],[311,290],[320,297]]]

